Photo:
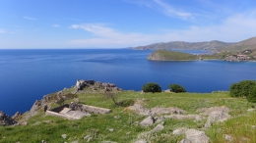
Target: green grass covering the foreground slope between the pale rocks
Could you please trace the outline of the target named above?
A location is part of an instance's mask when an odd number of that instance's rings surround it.
[[[255,104],[248,103],[243,98],[230,98],[228,93],[147,93],[123,91],[118,94],[118,100],[125,99],[144,99],[144,106],[147,108],[160,107],[178,107],[187,114],[195,114],[199,108],[209,108],[214,106],[226,106],[231,112],[232,119],[219,123],[214,127],[207,129],[206,133],[213,142],[224,142],[223,134],[229,134],[235,137],[239,142],[242,137],[249,138],[251,143],[256,142],[256,129],[251,125],[256,125],[256,112],[247,113],[246,110]],[[70,101],[68,101],[70,102]],[[126,111],[122,107],[114,107],[111,100],[105,100],[102,94],[80,94],[79,102],[83,104],[111,108],[112,113],[105,116],[94,115],[91,118],[80,120],[58,119],[55,117],[35,116],[29,120],[26,126],[0,126],[0,142],[87,142],[84,137],[93,136],[92,142],[116,141],[116,142],[134,142],[140,132],[149,131],[157,124],[146,128],[136,125],[136,121],[141,121],[145,117],[138,116],[132,112]],[[196,113],[197,114],[197,113]],[[119,119],[115,119],[119,116]],[[42,120],[52,120],[46,123]],[[38,123],[41,122],[41,123]],[[184,136],[171,135],[172,130],[177,127],[201,128],[205,123],[195,122],[193,119],[176,120],[167,119],[164,122],[164,129],[151,137],[153,143],[177,142]],[[110,132],[109,128],[114,131]],[[67,134],[63,139],[62,134]],[[242,142],[242,141],[240,141]]]

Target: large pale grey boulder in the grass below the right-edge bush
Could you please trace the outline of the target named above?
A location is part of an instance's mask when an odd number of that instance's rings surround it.
[[[229,118],[230,116],[224,111],[214,111],[209,115],[207,122],[205,123],[205,127],[210,127],[213,123],[223,122]]]

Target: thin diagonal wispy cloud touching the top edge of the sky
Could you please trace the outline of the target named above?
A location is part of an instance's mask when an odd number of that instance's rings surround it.
[[[128,3],[133,3],[141,6],[147,6],[149,8],[160,11],[168,17],[178,18],[182,20],[194,20],[194,15],[184,10],[178,10],[171,6],[171,4],[165,3],[162,0],[124,0]]]

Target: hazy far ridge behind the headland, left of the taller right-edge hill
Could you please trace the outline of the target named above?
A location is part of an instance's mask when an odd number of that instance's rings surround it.
[[[133,50],[210,50],[216,51],[222,49],[233,43],[226,43],[222,41],[210,41],[210,42],[183,42],[183,41],[171,41],[167,43],[154,43],[147,46],[132,47]]]

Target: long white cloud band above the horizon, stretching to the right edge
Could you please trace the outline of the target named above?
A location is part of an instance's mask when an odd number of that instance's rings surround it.
[[[237,42],[256,36],[256,11],[226,18],[222,24],[191,25],[186,29],[164,29],[161,33],[122,32],[105,24],[72,24],[74,29],[83,29],[95,38],[80,38],[71,44],[83,47],[129,47],[168,41]]]

